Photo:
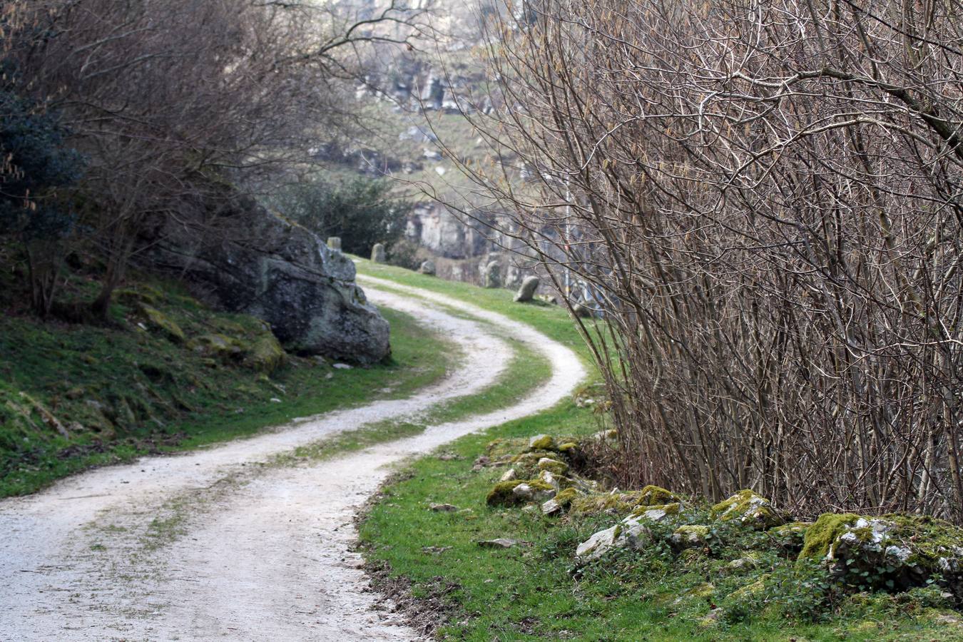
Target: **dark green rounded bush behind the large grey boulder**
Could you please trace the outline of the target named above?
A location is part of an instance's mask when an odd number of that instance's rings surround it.
[[[322,239],[341,237],[344,251],[368,256],[374,244],[390,247],[404,233],[411,205],[393,198],[391,187],[387,180],[364,177],[340,184],[315,180],[289,186],[270,204]]]

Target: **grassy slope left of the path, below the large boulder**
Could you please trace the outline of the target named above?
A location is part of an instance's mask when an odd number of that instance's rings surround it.
[[[75,285],[75,295],[90,296],[84,287]],[[144,453],[195,449],[296,417],[401,398],[459,358],[454,345],[439,349],[443,338],[411,317],[383,310],[392,326],[390,363],[339,370],[289,357],[262,368],[243,358],[246,347],[268,340],[260,321],[213,312],[163,284],[142,284],[120,301],[113,327],[0,318],[0,497]],[[184,337],[143,319],[145,303]],[[231,350],[190,345],[210,336]]]

